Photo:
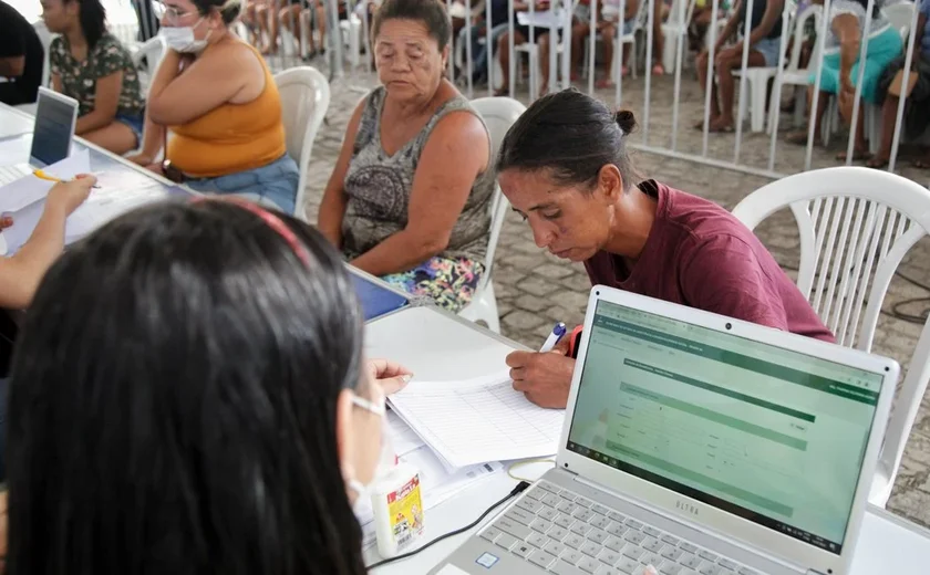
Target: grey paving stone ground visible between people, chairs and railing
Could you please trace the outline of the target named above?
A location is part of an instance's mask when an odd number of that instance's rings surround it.
[[[310,163],[307,210],[311,222],[316,222],[319,200],[339,153],[348,118],[355,104],[363,97],[365,88],[373,85],[373,82],[370,76],[355,74],[338,80],[333,84],[328,123],[317,137]],[[622,100],[623,107],[633,109],[641,123],[643,85],[642,77],[627,80]],[[674,115],[673,77],[654,80],[651,94],[648,144],[669,148]],[[475,95],[484,96],[486,91]],[[614,102],[613,91],[600,93],[599,96],[611,104]],[[526,101],[525,94],[518,94],[518,97]],[[702,117],[703,96],[696,82],[690,75],[682,77],[679,103],[679,129],[675,143],[678,150],[700,156],[703,135],[693,130],[691,125]],[[783,117],[787,118],[788,115],[783,115]],[[746,123],[746,128],[748,129],[748,123]],[[631,137],[633,143],[641,143],[643,132],[633,134]],[[734,160],[735,135],[713,136],[709,144],[710,157],[720,161]],[[766,169],[769,149],[771,140],[765,134],[744,133],[738,161],[750,167]],[[775,149],[777,171],[787,175],[803,169],[803,148],[785,144],[779,138],[776,140]],[[835,137],[829,150],[814,150],[813,166],[838,165],[835,154],[839,149],[845,149],[845,136]],[[750,192],[771,181],[765,177],[645,151],[636,154],[636,163],[644,177],[654,177],[679,189],[716,201],[727,209],[732,209]],[[930,172],[917,170],[909,165],[903,168],[902,174],[923,185],[930,180]],[[797,265],[799,242],[797,229],[789,212],[776,213],[756,231],[783,266],[790,270]],[[923,285],[930,285],[930,258],[928,255],[930,255],[930,241],[924,239],[911,250],[900,271]],[[554,322],[562,321],[574,325],[583,320],[583,310],[590,290],[583,268],[580,264],[560,261],[537,248],[529,228],[515,213],[508,215],[504,224],[493,276],[502,317],[502,332],[508,337],[528,346],[539,345]],[[914,297],[930,297],[930,291],[896,276],[884,303],[886,313],[882,313],[879,320],[874,344],[874,352],[896,358],[905,369],[909,365],[921,325],[897,320],[890,315],[890,311],[896,303]],[[927,305],[930,303],[916,303],[905,311],[920,314]],[[921,404],[888,509],[930,526],[930,399],[928,398],[924,398]]]

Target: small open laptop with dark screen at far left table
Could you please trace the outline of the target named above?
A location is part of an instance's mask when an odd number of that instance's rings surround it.
[[[39,88],[35,125],[29,163],[0,166],[0,186],[28,176],[33,170],[61,161],[71,155],[78,101],[45,87]]]

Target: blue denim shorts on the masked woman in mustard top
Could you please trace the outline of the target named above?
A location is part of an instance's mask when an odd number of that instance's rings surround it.
[[[287,154],[271,164],[216,178],[189,179],[185,185],[206,194],[248,195],[269,200],[281,211],[293,213],[300,171]]]

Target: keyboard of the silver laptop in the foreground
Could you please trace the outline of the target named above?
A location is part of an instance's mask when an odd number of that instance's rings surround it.
[[[557,575],[760,575],[546,481],[480,537]]]

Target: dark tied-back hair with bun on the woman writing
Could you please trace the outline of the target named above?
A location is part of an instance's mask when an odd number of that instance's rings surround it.
[[[507,130],[497,156],[497,171],[548,170],[565,185],[590,185],[613,164],[623,188],[638,178],[627,136],[637,127],[632,112],[612,112],[601,101],[575,88],[540,97]]]

